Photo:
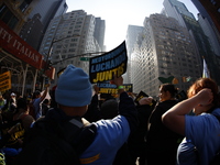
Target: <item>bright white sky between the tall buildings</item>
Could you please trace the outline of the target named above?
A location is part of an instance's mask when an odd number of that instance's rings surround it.
[[[127,35],[128,25],[143,26],[145,16],[161,13],[164,0],[66,0],[67,12],[84,10],[106,21],[106,51],[119,46]],[[197,19],[197,9],[190,0],[179,0]]]

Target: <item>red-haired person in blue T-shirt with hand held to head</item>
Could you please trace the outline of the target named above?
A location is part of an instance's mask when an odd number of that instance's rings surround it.
[[[191,110],[195,116],[188,114]],[[188,90],[188,99],[170,108],[162,120],[185,135],[178,146],[177,165],[210,165],[220,153],[220,98],[215,80],[197,79]]]

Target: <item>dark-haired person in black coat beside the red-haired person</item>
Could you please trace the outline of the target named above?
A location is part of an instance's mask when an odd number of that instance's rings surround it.
[[[174,85],[164,84],[160,87],[160,102],[155,106],[147,124],[147,165],[176,164],[176,151],[184,136],[162,123],[162,116],[177,103],[176,94]]]

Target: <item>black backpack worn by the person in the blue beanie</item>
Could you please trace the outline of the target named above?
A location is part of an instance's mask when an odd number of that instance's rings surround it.
[[[15,165],[79,165],[79,155],[91,144],[96,125],[76,119],[64,123],[42,118],[24,136]]]

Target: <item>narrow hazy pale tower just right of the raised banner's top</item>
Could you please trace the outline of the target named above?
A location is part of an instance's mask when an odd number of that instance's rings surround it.
[[[131,54],[134,48],[134,44],[136,42],[136,37],[139,33],[143,31],[143,26],[139,25],[129,25],[127,30],[127,54],[128,54],[128,68],[127,73],[123,75],[123,79],[125,84],[131,84]]]

